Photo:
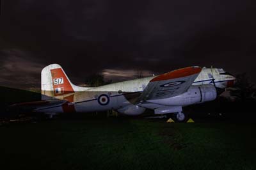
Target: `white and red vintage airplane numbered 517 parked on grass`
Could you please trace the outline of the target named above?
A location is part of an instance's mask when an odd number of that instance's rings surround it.
[[[52,64],[41,72],[42,101],[15,106],[30,105],[33,112],[49,116],[108,110],[136,116],[152,109],[154,114],[174,113],[178,121],[184,121],[182,107],[215,100],[216,89],[228,88],[235,81],[236,77],[222,68],[189,66],[152,77],[85,88],[72,84],[63,68]]]

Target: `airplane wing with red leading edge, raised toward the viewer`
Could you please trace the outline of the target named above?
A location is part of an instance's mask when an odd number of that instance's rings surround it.
[[[198,66],[190,66],[158,75],[148,83],[137,102],[180,95],[188,90],[201,70]]]

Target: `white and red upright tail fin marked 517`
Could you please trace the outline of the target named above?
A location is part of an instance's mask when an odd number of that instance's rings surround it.
[[[60,65],[45,66],[41,72],[42,100],[58,98],[60,95],[74,93],[74,86]]]

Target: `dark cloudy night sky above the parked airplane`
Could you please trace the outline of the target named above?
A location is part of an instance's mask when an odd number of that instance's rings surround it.
[[[59,63],[74,84],[215,66],[256,82],[255,1],[2,0],[0,86],[40,87]]]

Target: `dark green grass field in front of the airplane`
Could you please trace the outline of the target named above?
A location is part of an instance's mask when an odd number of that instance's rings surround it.
[[[1,169],[256,169],[254,124],[88,118],[0,126]]]

